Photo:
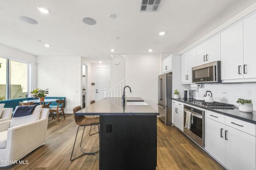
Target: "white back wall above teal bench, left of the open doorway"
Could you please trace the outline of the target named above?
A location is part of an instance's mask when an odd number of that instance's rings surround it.
[[[37,62],[36,88],[49,89],[49,97],[66,97],[65,113],[73,113],[82,104],[81,57],[38,56]]]

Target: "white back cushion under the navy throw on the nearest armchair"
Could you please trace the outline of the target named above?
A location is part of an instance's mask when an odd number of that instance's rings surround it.
[[[19,106],[17,106],[16,109],[18,107]],[[16,111],[16,109],[15,109],[15,111]],[[34,109],[34,111],[31,115],[22,116],[22,117],[13,117],[11,120],[11,123],[10,123],[10,128],[39,120],[41,110],[42,110],[42,105],[38,105],[38,106],[36,106],[36,108]],[[14,113],[15,113],[15,111],[14,111]]]

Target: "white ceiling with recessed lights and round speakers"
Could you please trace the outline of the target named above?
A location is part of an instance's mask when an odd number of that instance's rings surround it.
[[[139,12],[140,0],[0,0],[0,43],[37,56],[82,56],[93,63],[110,54],[147,54],[148,49],[178,53],[255,2],[162,0],[159,12]],[[50,14],[37,6],[46,6]],[[116,18],[108,18],[110,13]],[[85,17],[97,24],[84,24]],[[160,31],[166,34],[159,36]]]

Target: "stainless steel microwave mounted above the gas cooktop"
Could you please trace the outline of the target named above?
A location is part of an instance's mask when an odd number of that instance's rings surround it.
[[[192,67],[192,83],[221,83],[220,61]]]

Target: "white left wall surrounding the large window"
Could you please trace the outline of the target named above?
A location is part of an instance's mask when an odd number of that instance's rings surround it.
[[[15,61],[22,61],[27,63],[32,63],[32,87],[28,87],[28,91],[31,91],[34,87],[36,87],[36,56],[19,51],[18,49],[14,49],[11,47],[7,47],[5,45],[0,44],[0,57],[13,59]]]

